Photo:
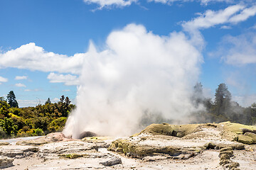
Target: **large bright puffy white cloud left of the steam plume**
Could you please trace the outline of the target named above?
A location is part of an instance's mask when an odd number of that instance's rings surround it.
[[[41,72],[60,72],[80,74],[81,63],[85,54],[71,57],[46,52],[43,47],[31,42],[15,50],[0,53],[0,69],[14,67],[18,69],[38,70]]]

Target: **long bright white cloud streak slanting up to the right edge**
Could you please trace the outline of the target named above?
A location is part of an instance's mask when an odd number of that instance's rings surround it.
[[[225,23],[236,24],[247,20],[250,16],[255,16],[256,6],[246,8],[243,5],[233,5],[219,11],[207,10],[197,18],[188,22],[183,22],[184,30],[193,32],[204,28],[210,28]]]

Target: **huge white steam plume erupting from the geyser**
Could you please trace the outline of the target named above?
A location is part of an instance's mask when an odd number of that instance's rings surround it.
[[[130,24],[110,33],[102,52],[90,43],[85,56],[66,136],[131,135],[144,111],[181,120],[195,109],[190,96],[202,57],[182,32],[159,36]]]

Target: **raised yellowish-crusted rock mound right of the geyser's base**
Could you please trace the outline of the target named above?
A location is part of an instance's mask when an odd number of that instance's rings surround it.
[[[247,132],[242,135],[245,128]],[[243,144],[255,142],[256,134],[252,133],[253,130],[256,130],[255,126],[230,122],[152,124],[137,135],[115,140],[109,150],[139,159],[161,154],[173,159],[188,159],[206,149],[245,149]]]

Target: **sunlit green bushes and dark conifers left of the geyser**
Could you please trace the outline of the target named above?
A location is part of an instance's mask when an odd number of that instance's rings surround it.
[[[70,112],[75,108],[70,99],[60,97],[57,103],[50,98],[43,105],[18,108],[14,91],[0,97],[0,138],[27,137],[60,132]]]

